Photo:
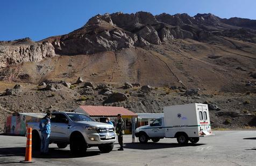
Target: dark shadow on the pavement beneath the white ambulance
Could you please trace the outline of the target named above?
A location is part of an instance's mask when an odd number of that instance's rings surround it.
[[[187,146],[201,146],[205,144],[187,144],[179,145],[176,143],[153,143],[148,142],[147,144],[141,143],[126,143],[124,144],[127,149],[140,149],[140,150],[151,150],[151,149],[163,149],[163,148],[176,148],[176,147],[187,147]]]

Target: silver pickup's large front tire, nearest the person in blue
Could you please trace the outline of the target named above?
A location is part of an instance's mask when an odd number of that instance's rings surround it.
[[[75,155],[83,155],[87,150],[87,143],[81,133],[75,133],[70,138],[70,151]]]

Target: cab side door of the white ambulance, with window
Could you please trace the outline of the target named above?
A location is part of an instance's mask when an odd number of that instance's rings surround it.
[[[147,134],[149,137],[159,137],[163,138],[164,136],[163,130],[163,120],[162,119],[155,119],[154,122],[151,124],[150,128],[147,129]]]

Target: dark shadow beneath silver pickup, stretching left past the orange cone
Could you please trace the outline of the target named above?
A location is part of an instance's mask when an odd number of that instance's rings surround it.
[[[1,157],[7,156],[25,156],[25,147],[10,147],[10,148],[0,148],[0,161]],[[39,151],[32,152],[32,158],[38,159],[68,159],[76,157],[89,157],[100,155],[99,150],[87,150],[86,154],[82,155],[73,155],[70,153],[69,149],[58,149],[58,148],[49,148],[49,155],[40,155]],[[2,162],[0,162],[1,164]]]

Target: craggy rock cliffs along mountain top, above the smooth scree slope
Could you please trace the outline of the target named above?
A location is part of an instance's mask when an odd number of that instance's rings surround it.
[[[208,41],[227,36],[256,43],[256,20],[221,19],[213,14],[153,16],[147,12],[97,15],[67,35],[39,42],[30,39],[0,42],[0,67],[21,62],[38,62],[59,55],[95,54],[122,48],[145,47],[173,39]]]

